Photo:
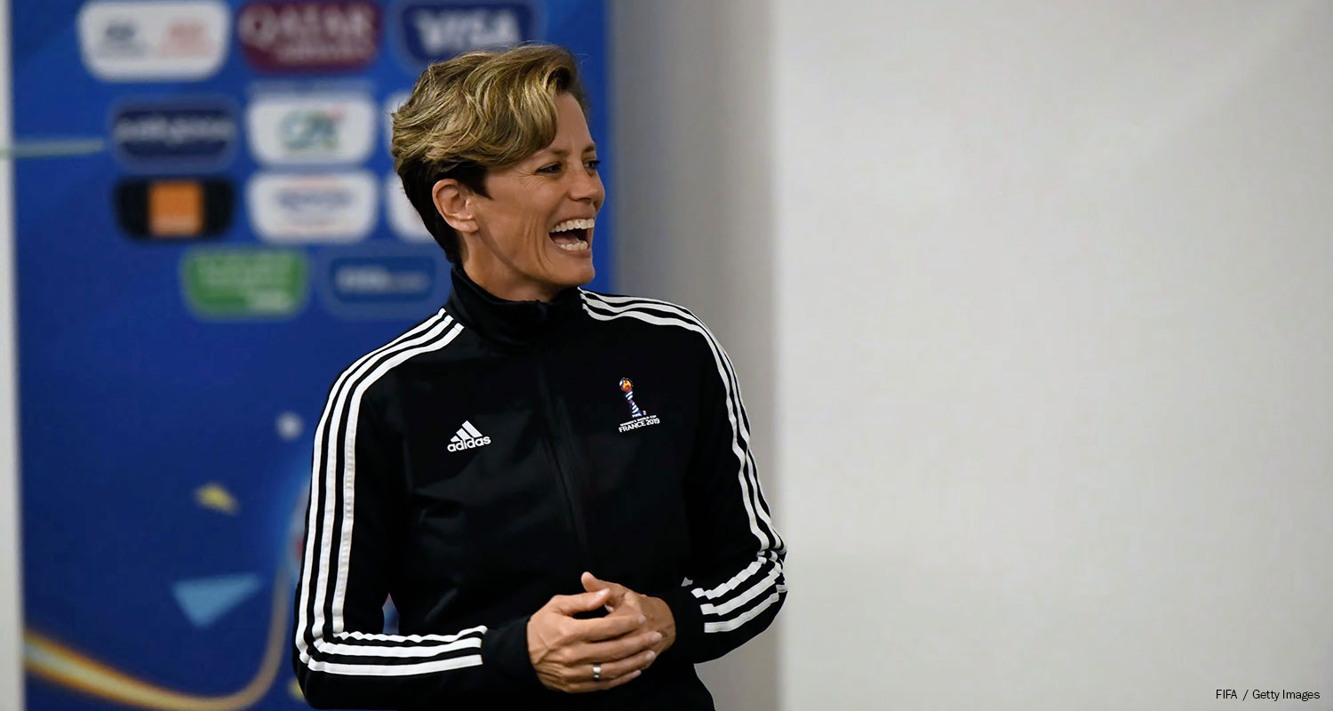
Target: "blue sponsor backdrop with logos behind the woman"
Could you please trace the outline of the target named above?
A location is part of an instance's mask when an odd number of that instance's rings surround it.
[[[304,706],[291,591],[328,384],[448,292],[439,249],[399,233],[385,204],[385,103],[423,60],[516,33],[572,48],[612,157],[603,0],[323,4],[340,15],[11,4],[16,141],[104,141],[15,165],[28,708]],[[335,136],[331,161],[261,165],[251,101],[312,91],[373,99],[369,157],[340,163],[352,139]],[[324,239],[328,225],[279,215],[280,233],[259,235],[247,191],[265,172],[344,173],[280,205],[363,205],[367,181],[347,173],[368,172],[373,229]],[[127,180],[147,185],[117,191]],[[217,180],[231,215],[211,203]],[[609,212],[599,223],[595,288],[611,279]]]

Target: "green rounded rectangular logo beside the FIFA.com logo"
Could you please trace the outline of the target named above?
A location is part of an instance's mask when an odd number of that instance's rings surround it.
[[[305,305],[305,255],[279,249],[196,249],[180,263],[181,293],[205,319],[273,319]]]

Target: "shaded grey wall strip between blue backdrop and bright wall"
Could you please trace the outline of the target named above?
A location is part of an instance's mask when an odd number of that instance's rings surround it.
[[[770,466],[777,395],[769,4],[609,7],[616,288],[685,304],[722,341],[741,379],[772,502],[781,494]],[[718,708],[777,707],[778,644],[780,632],[769,630],[698,667]]]

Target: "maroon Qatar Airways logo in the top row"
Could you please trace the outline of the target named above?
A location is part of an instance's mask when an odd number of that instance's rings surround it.
[[[375,3],[251,3],[236,16],[245,59],[269,72],[355,71],[380,49]]]

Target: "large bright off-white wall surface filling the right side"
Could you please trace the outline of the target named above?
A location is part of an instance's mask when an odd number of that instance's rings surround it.
[[[784,708],[1333,707],[1333,4],[773,25]]]

